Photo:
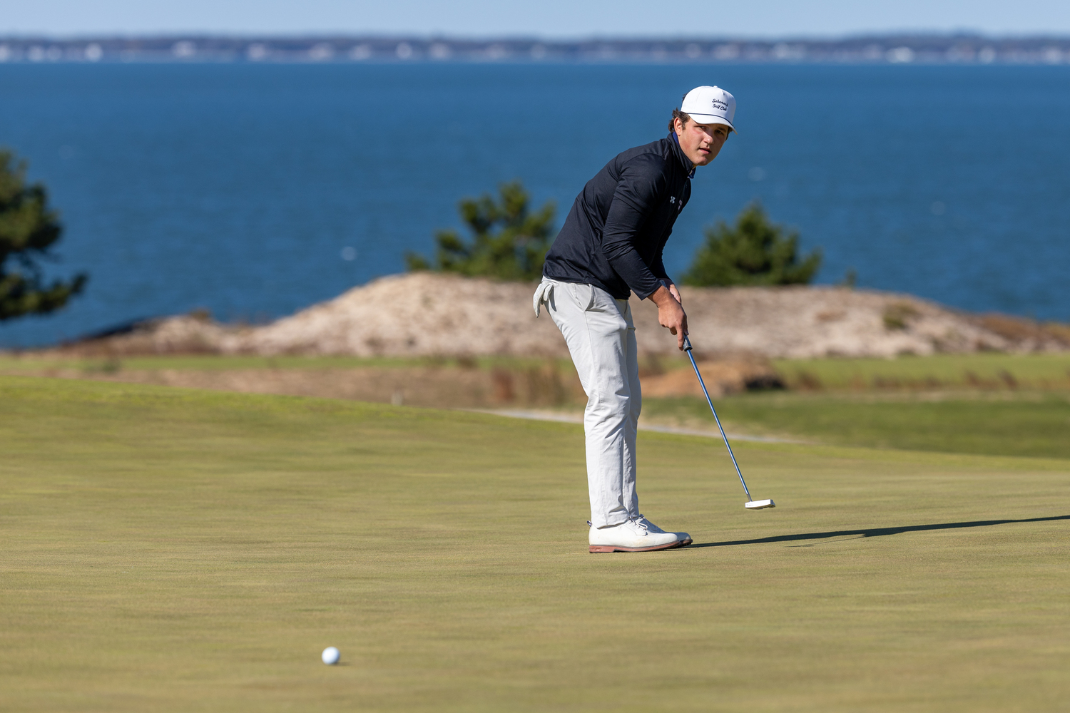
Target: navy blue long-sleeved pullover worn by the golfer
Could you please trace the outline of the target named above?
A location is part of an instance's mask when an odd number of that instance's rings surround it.
[[[646,299],[661,280],[671,281],[661,251],[691,198],[693,174],[674,133],[618,154],[576,197],[542,275],[593,284],[616,299],[632,290]]]

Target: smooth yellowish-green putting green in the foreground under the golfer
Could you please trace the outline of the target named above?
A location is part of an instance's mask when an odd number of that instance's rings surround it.
[[[3,711],[1063,711],[1070,460],[0,377]],[[341,665],[320,663],[326,646]]]

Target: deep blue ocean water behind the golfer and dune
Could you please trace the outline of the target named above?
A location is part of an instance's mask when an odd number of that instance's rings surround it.
[[[0,345],[207,308],[288,314],[403,268],[456,203],[521,179],[557,224],[693,86],[738,100],[666,250],[761,200],[819,282],[1070,320],[1070,67],[597,64],[0,65],[0,145],[66,226],[64,311]]]

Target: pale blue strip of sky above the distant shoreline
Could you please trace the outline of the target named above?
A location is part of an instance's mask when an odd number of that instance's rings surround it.
[[[1070,0],[0,0],[0,34],[1070,34]]]

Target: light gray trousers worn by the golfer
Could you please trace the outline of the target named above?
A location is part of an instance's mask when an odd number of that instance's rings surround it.
[[[643,397],[628,300],[591,284],[542,278],[533,301],[535,315],[546,305],[561,329],[587,394],[583,431],[591,523],[611,527],[638,517],[636,431]]]

